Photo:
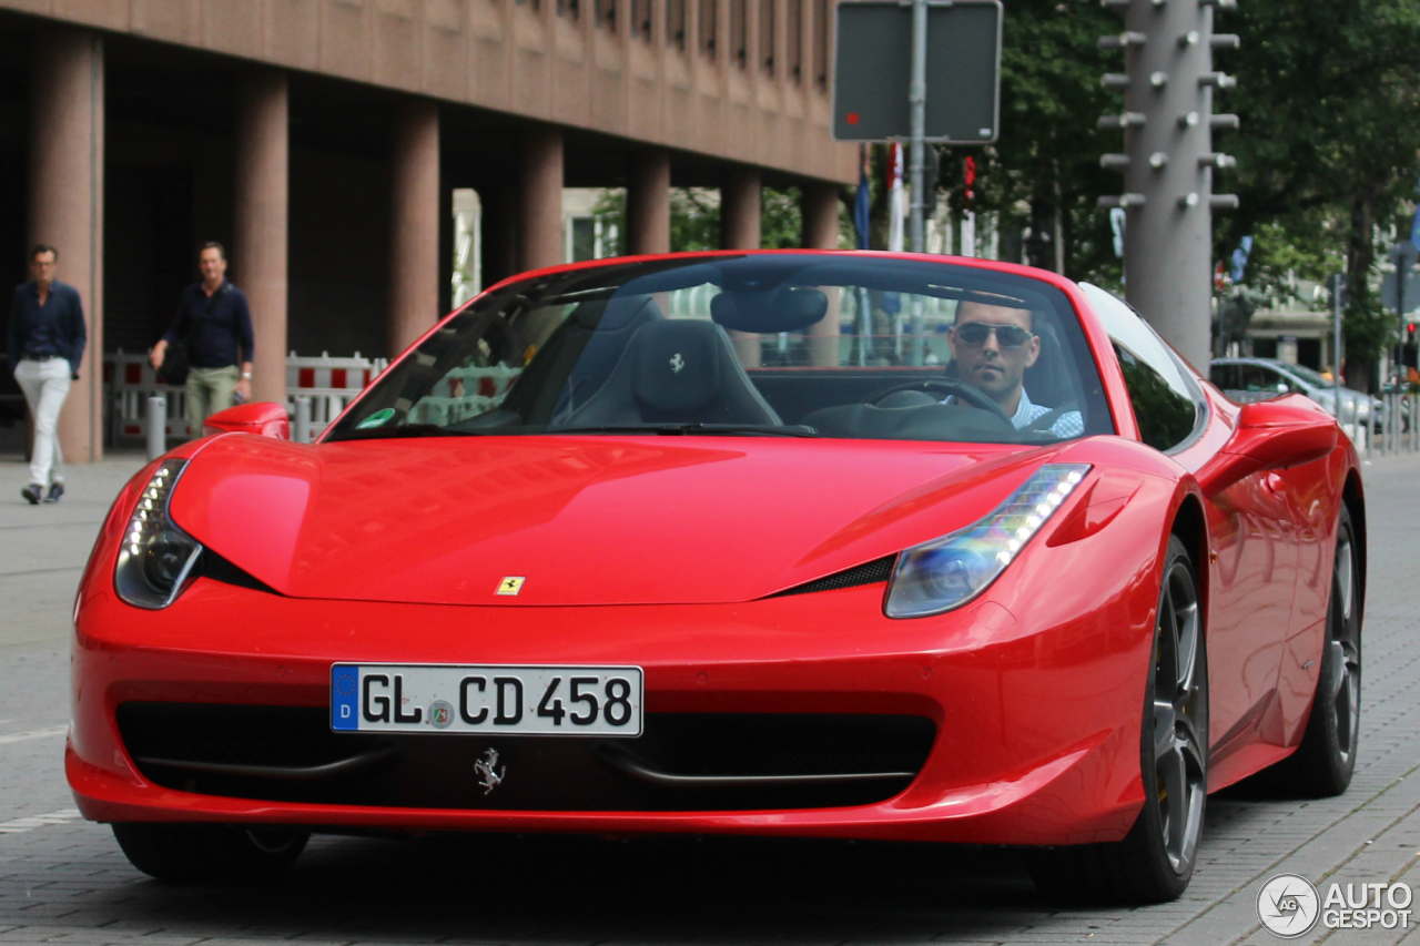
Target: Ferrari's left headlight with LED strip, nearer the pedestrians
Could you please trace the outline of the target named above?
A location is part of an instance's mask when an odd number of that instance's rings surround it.
[[[168,516],[186,460],[163,460],[143,487],[118,550],[114,587],[118,597],[139,608],[166,608],[182,594],[197,564],[202,545]]]

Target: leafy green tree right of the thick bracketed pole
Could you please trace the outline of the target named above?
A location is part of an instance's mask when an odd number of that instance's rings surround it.
[[[1348,379],[1369,386],[1393,328],[1370,277],[1420,148],[1420,4],[1248,0],[1227,27],[1242,40],[1230,54],[1242,128],[1228,142],[1241,207],[1217,222],[1220,241],[1235,246],[1269,226],[1274,244],[1311,261],[1312,278],[1322,276],[1316,263],[1343,263]]]

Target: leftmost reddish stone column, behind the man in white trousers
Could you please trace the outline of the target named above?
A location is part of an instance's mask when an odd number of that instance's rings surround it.
[[[70,463],[104,457],[104,44],[53,30],[34,44],[30,75],[30,246],[60,251],[58,280],[80,291],[88,345],[60,415]]]

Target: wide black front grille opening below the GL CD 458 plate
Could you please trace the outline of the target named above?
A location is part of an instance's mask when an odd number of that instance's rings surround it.
[[[916,777],[920,716],[648,713],[639,739],[334,733],[325,707],[124,703],[145,777],[210,795],[523,811],[733,811],[883,801]],[[476,763],[497,751],[503,781]]]

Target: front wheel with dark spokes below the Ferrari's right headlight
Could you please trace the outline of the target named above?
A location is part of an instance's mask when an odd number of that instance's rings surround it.
[[[1208,662],[1198,580],[1172,535],[1154,621],[1139,750],[1145,805],[1116,844],[1032,852],[1037,888],[1066,899],[1159,903],[1189,886],[1208,784]]]

